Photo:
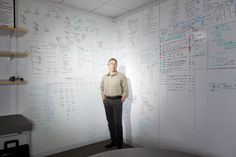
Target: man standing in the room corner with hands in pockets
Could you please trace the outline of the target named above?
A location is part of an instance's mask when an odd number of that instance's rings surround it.
[[[111,143],[106,148],[123,146],[122,104],[128,97],[128,84],[124,74],[117,71],[117,60],[108,61],[109,72],[102,77],[101,94],[105,106]]]

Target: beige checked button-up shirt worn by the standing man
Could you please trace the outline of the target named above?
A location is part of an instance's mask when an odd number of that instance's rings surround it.
[[[114,75],[105,74],[102,77],[100,89],[105,96],[128,97],[127,79],[124,74],[118,71]]]

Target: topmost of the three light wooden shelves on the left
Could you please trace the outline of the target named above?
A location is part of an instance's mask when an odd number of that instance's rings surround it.
[[[14,28],[9,26],[0,26],[0,35],[14,35],[16,37],[20,37],[25,35],[28,32],[26,28]]]

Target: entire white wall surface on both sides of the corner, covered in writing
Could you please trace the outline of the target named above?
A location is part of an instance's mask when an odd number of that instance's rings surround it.
[[[30,31],[18,45],[30,55],[19,60],[18,71],[29,83],[18,93],[1,87],[0,113],[19,108],[34,121],[36,156],[109,138],[99,81],[115,57],[130,87],[123,106],[126,142],[234,157],[235,6],[236,1],[168,0],[112,22],[21,0],[19,25]],[[14,73],[8,60],[0,64],[1,78]]]

